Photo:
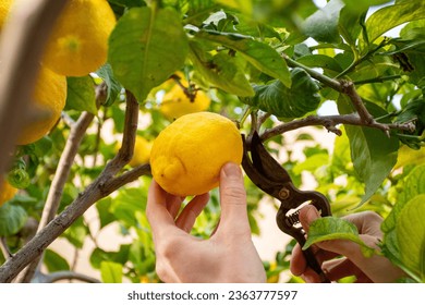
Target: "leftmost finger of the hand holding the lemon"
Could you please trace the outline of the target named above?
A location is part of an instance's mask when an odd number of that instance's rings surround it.
[[[146,217],[149,221],[154,237],[169,230],[169,228],[175,227],[174,218],[167,209],[167,192],[155,180],[153,180],[149,186]]]

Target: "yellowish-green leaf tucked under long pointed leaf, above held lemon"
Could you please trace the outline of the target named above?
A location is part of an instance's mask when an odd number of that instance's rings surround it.
[[[211,56],[204,51],[196,41],[191,41],[190,46],[190,58],[193,65],[207,82],[228,94],[243,97],[254,95],[243,69],[238,65],[234,57],[230,57],[224,52]]]

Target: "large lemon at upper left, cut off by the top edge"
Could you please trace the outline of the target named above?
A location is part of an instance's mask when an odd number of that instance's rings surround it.
[[[70,0],[47,44],[44,63],[66,76],[83,76],[107,61],[116,16],[107,0]]]

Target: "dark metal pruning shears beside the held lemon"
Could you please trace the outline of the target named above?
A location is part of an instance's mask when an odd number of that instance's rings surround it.
[[[299,213],[303,204],[311,204],[317,208],[321,216],[330,216],[328,199],[315,191],[301,191],[296,188],[284,168],[270,156],[263,146],[257,132],[254,132],[247,143],[242,135],[244,152],[242,167],[251,181],[262,191],[280,200],[276,221],[279,229],[296,240],[301,247],[305,244],[305,232],[300,223]],[[251,151],[251,158],[248,156]],[[307,265],[319,274],[321,282],[330,282],[320,265],[316,260],[312,248],[303,251]]]

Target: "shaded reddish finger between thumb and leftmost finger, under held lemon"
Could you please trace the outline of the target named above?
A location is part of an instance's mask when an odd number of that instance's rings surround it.
[[[183,231],[190,233],[196,221],[196,218],[203,211],[205,206],[208,204],[209,194],[203,194],[194,197],[182,210],[178,219],[175,220],[175,225],[182,229]]]

